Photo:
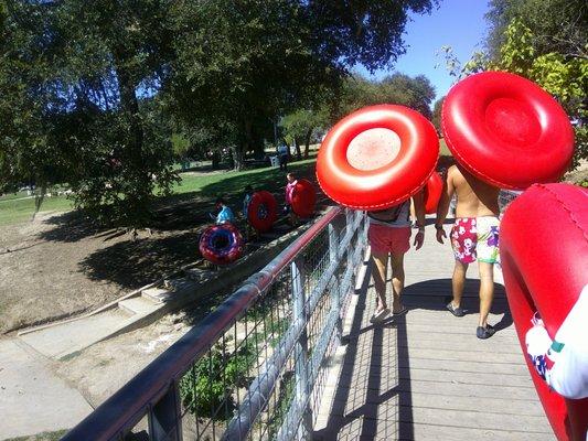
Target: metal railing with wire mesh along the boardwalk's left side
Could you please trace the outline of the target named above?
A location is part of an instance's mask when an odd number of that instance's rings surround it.
[[[331,208],[64,440],[307,438],[366,232]]]

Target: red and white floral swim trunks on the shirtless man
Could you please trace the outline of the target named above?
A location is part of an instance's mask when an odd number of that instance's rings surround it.
[[[451,228],[451,247],[456,260],[471,263],[499,261],[500,220],[494,216],[458,217]]]

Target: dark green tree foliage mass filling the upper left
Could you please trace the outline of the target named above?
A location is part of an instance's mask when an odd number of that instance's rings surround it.
[[[394,63],[407,14],[436,3],[4,1],[0,191],[67,183],[94,219],[145,226],[177,179],[172,133],[183,152],[229,149],[240,168],[280,116],[322,108],[356,63]]]

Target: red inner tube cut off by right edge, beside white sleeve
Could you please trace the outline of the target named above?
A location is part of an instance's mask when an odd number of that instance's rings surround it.
[[[584,441],[588,399],[549,390],[526,357],[525,335],[538,311],[553,340],[588,283],[588,191],[533,185],[506,208],[500,256],[513,321],[547,418],[558,440]]]

